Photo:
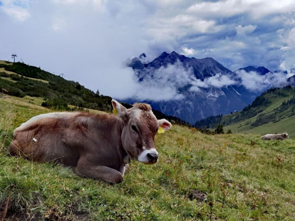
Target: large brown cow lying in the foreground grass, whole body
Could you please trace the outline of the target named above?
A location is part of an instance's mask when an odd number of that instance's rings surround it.
[[[112,105],[117,116],[60,112],[33,117],[14,130],[9,152],[76,167],[80,176],[122,182],[128,157],[145,164],[158,161],[155,134],[159,127],[169,130],[171,123],[157,120],[148,104],[126,109],[112,100]]]

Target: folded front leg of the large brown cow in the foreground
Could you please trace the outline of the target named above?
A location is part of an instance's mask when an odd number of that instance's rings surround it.
[[[101,179],[109,183],[120,183],[123,181],[123,175],[119,171],[107,166],[97,166],[87,161],[87,159],[79,159],[76,174],[81,177]]]

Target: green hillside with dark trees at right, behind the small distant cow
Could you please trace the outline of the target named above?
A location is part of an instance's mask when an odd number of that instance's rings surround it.
[[[242,111],[225,116],[210,116],[197,121],[198,128],[215,128],[218,124],[225,131],[256,134],[287,132],[295,136],[295,87],[272,88],[258,96]]]

